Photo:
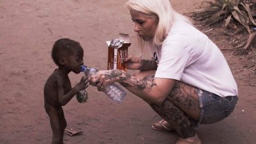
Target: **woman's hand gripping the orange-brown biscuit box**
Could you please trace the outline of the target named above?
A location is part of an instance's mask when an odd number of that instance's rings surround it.
[[[137,56],[127,56],[125,58],[125,62],[127,62],[127,69],[140,69],[141,67],[141,58]]]

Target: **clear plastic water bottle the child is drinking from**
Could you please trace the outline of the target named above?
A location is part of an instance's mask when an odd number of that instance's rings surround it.
[[[81,65],[80,69],[85,73],[86,76],[87,75],[91,76],[98,71],[98,69],[95,69],[95,68],[90,69],[85,65]],[[106,94],[109,98],[113,99],[117,103],[120,103],[121,101],[123,101],[123,99],[126,96],[125,90],[123,90],[120,86],[118,86],[115,83],[112,83],[106,86],[106,90],[104,90],[104,94]]]

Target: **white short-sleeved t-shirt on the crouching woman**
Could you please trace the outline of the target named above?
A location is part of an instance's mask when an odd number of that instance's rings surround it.
[[[221,97],[237,96],[238,87],[221,50],[186,22],[176,22],[163,45],[154,47],[155,77],[176,79]]]

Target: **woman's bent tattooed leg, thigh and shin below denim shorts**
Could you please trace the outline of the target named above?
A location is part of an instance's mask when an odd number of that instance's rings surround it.
[[[200,107],[197,88],[176,82],[171,94],[163,101],[162,105],[151,105],[151,107],[163,119],[167,120],[177,133],[183,137],[192,137],[196,134],[190,118],[198,120]]]

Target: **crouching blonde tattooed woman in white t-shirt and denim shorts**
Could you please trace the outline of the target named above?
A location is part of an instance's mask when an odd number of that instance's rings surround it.
[[[169,0],[129,0],[126,3],[139,46],[150,48],[152,60],[125,59],[135,75],[121,70],[98,71],[91,84],[98,90],[119,82],[144,99],[163,120],[155,130],[175,130],[177,143],[201,143],[194,127],[230,115],[238,88],[223,54]]]

